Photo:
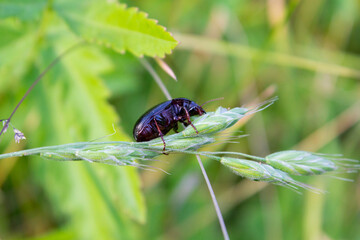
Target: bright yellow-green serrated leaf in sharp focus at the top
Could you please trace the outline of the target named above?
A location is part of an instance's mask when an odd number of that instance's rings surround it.
[[[59,1],[55,11],[81,38],[136,56],[164,57],[177,41],[147,14],[106,1]]]

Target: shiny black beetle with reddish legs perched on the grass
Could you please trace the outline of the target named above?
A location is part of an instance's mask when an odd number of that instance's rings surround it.
[[[175,98],[160,103],[144,113],[135,123],[133,136],[137,142],[146,142],[154,138],[161,137],[166,143],[164,135],[171,129],[178,132],[178,122],[185,126],[191,125],[196,133],[199,133],[196,127],[191,123],[190,116],[205,114],[205,110],[187,98]]]

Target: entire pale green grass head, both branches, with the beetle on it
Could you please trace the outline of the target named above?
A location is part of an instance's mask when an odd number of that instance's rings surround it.
[[[199,134],[192,126],[188,126],[180,133],[164,137],[166,151],[167,153],[201,155],[219,161],[237,175],[254,181],[271,182],[294,190],[305,188],[314,192],[320,191],[294,180],[290,175],[319,175],[339,169],[349,172],[359,168],[357,162],[348,159],[305,151],[281,151],[265,158],[239,152],[198,151],[204,145],[215,143],[216,133],[231,127],[246,115],[267,108],[275,100],[276,98],[273,98],[255,108],[219,107],[215,112],[199,116],[193,119],[193,124]],[[88,161],[144,168],[146,165],[140,161],[152,160],[162,155],[163,147],[163,142],[159,138],[148,142],[80,142],[0,154],[0,159],[38,155],[48,160]],[[239,158],[229,157],[229,155]]]

